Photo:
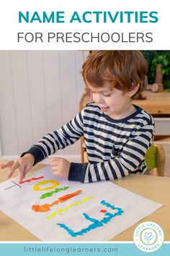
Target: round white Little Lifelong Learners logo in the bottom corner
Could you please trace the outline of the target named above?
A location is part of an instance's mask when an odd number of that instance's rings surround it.
[[[155,252],[164,242],[164,232],[157,223],[140,223],[133,233],[133,241],[143,252]]]

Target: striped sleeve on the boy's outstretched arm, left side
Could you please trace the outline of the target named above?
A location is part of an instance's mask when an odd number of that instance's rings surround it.
[[[54,132],[49,132],[48,135],[42,137],[37,144],[32,145],[30,150],[22,153],[22,156],[26,153],[34,155],[35,163],[42,161],[48,155],[52,155],[57,150],[66,148],[66,146],[73,144],[76,140],[84,134],[83,126],[83,112],[79,112],[71,121],[68,121],[66,125]]]

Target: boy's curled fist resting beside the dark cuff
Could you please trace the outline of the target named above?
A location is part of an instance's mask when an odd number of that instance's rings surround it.
[[[50,165],[55,176],[68,179],[71,163],[65,158],[51,158]]]

